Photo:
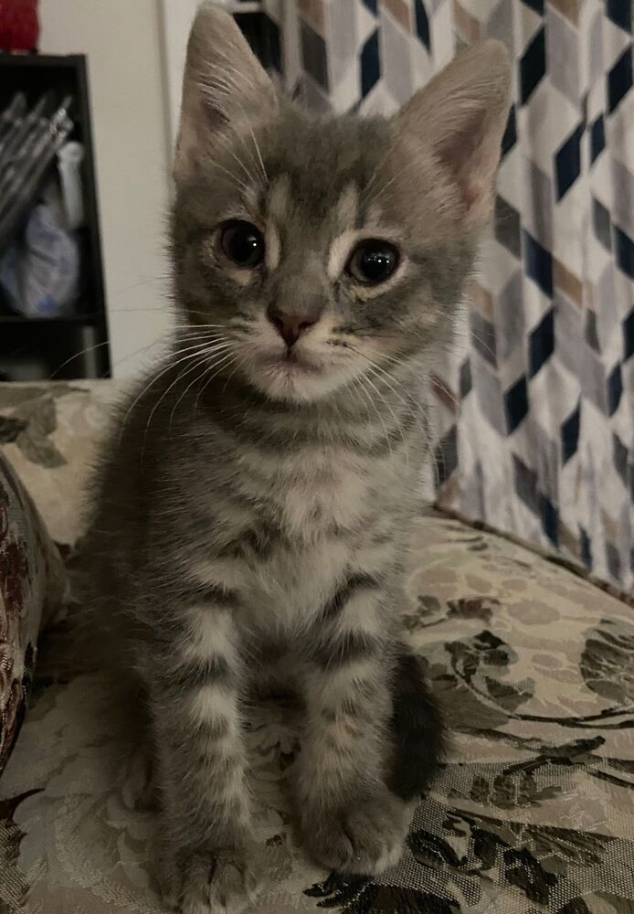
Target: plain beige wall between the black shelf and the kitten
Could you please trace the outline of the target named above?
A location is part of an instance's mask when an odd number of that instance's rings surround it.
[[[169,125],[159,0],[40,0],[44,53],[88,55],[115,376],[170,324],[164,216]]]

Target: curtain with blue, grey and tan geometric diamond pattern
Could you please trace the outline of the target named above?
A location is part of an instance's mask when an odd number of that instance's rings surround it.
[[[270,0],[312,108],[393,111],[483,37],[514,60],[465,349],[433,379],[441,505],[634,583],[631,0]]]

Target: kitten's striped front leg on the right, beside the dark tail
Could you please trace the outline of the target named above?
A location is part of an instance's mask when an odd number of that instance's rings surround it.
[[[315,628],[299,774],[309,853],[340,872],[377,874],[401,856],[409,809],[385,785],[390,645],[377,583],[355,576]]]

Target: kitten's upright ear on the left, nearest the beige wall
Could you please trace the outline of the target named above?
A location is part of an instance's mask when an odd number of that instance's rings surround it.
[[[233,17],[216,4],[203,3],[187,45],[176,183],[195,175],[228,133],[248,133],[276,106],[273,84]]]

